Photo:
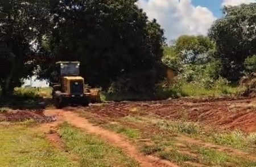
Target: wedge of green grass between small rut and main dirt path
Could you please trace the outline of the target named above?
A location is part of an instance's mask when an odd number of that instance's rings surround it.
[[[63,123],[60,134],[67,149],[79,157],[80,166],[138,166],[121,149],[114,148],[97,136],[86,134],[68,123]]]

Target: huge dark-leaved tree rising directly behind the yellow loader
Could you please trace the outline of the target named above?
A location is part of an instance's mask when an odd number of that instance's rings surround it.
[[[49,60],[40,64],[40,76],[49,78],[53,62],[80,61],[81,75],[92,86],[107,89],[115,83],[134,92],[154,87],[163,74],[163,30],[135,2],[51,1],[47,48],[54,56],[50,65]]]

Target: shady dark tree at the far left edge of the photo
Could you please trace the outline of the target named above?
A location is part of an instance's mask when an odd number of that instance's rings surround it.
[[[32,75],[30,58],[35,54],[31,42],[44,27],[42,1],[10,0],[0,3],[0,87],[2,95],[20,86],[20,79]]]

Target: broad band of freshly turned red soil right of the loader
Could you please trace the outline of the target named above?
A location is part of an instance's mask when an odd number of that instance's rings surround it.
[[[154,114],[159,118],[177,120],[187,118],[189,121],[201,122],[222,129],[256,132],[256,100],[255,99],[214,99],[193,100],[179,99],[151,102],[113,102],[104,105],[93,105],[82,108],[96,117],[126,117],[134,115]]]

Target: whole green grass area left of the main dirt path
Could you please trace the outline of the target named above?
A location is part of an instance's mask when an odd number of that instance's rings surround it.
[[[60,126],[64,149],[55,147],[33,122],[0,123],[0,166],[138,166],[119,148],[64,123]]]

